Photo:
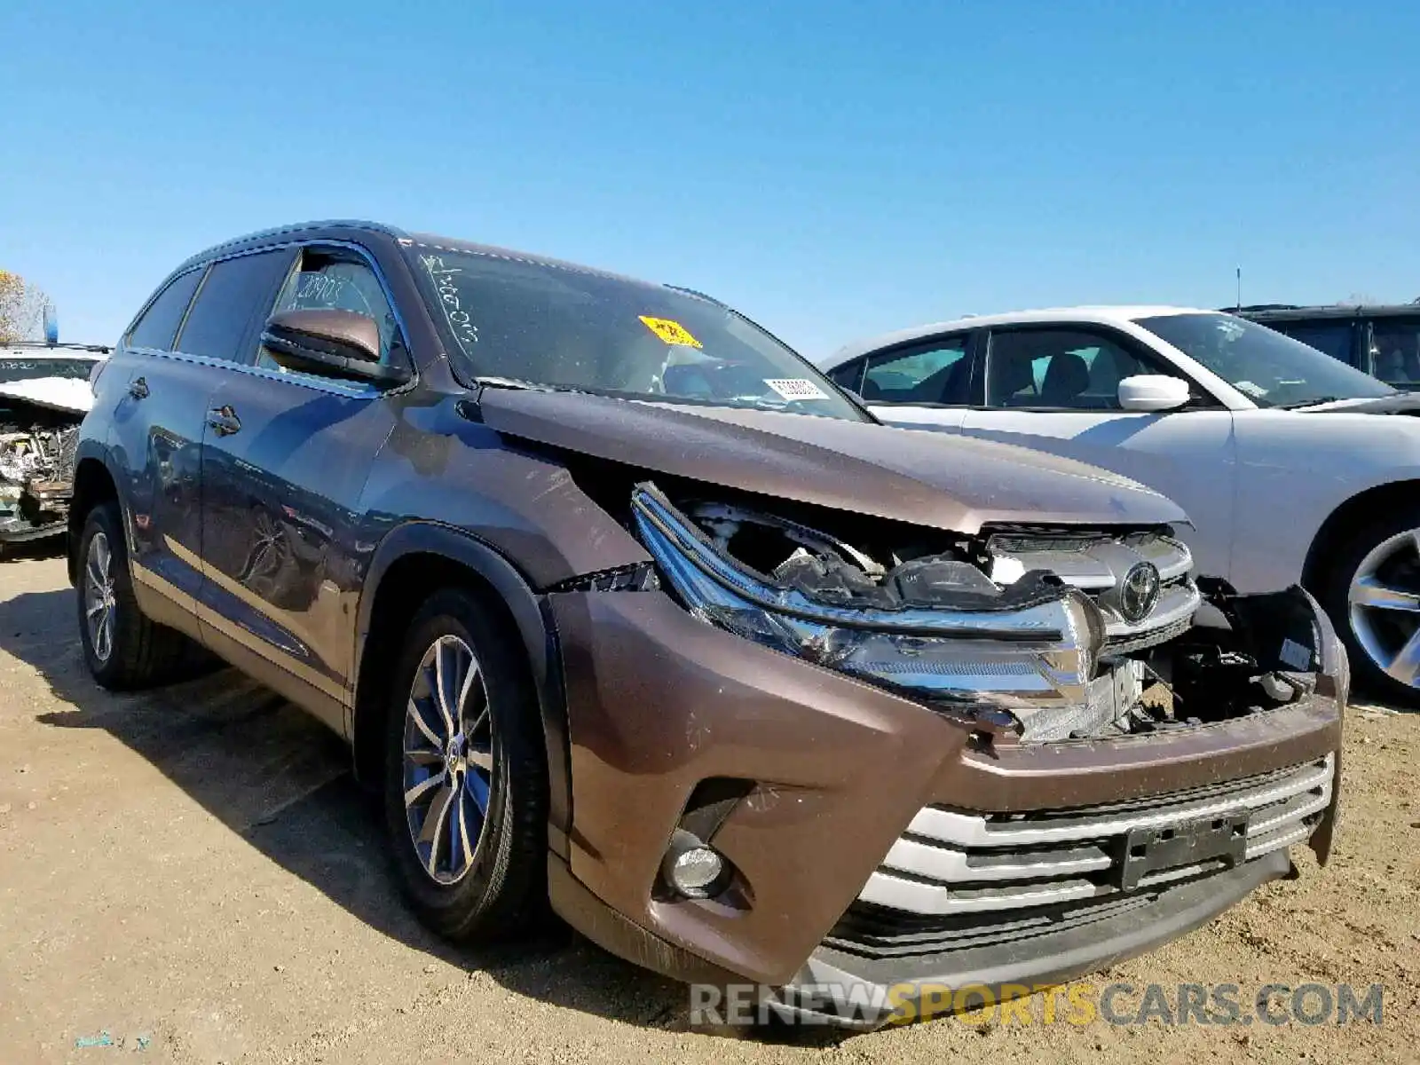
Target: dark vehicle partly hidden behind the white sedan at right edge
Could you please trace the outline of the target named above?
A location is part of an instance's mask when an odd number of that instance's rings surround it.
[[[1399,389],[1420,389],[1420,304],[1234,310]]]

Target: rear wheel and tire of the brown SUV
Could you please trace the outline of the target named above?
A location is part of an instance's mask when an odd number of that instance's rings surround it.
[[[116,503],[88,513],[77,577],[80,642],[89,673],[102,687],[132,692],[168,683],[203,659],[183,633],[139,609]]]

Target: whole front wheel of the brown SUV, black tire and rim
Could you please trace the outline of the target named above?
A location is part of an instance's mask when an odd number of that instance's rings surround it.
[[[490,941],[547,903],[547,757],[521,645],[463,589],[409,626],[385,734],[385,819],[429,927]]]

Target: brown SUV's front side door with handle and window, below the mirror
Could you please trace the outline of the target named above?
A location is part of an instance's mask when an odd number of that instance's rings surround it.
[[[274,310],[356,311],[379,324],[383,362],[408,364],[408,354],[372,257],[344,246],[294,254],[254,317],[244,365],[210,402],[204,638],[344,731],[362,551],[373,541],[359,498],[395,416],[372,385],[283,371],[261,349],[260,327]]]

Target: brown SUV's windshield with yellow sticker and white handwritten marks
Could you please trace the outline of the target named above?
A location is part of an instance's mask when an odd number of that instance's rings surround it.
[[[410,251],[473,376],[868,420],[814,366],[709,298],[490,251]]]

